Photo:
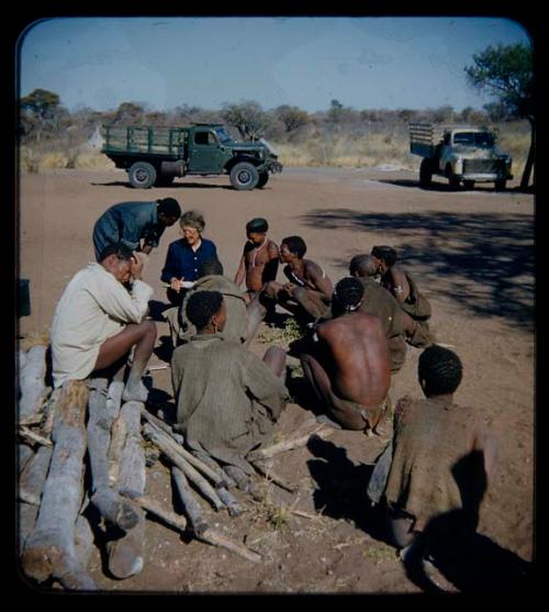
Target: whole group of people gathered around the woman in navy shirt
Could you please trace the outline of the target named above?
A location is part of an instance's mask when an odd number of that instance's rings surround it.
[[[134,231],[128,238],[123,230],[112,230],[110,216],[120,213],[127,222],[132,205],[146,221],[141,229],[128,223]],[[113,211],[116,207],[124,210]],[[395,545],[410,545],[435,511],[463,510],[451,467],[464,455],[485,453],[482,474],[491,472],[493,441],[473,409],[453,404],[461,361],[434,343],[429,302],[396,265],[393,248],[374,246],[370,254],[354,256],[349,275],[334,287],[322,266],[304,257],[301,236],[284,237],[279,247],[268,237],[267,220],[253,219],[229,279],[216,246],[202,237],[203,216],[181,214],[171,198],[116,204],[103,216],[111,223],[112,242],[100,219],[93,240],[98,262],[72,278],[56,308],[55,386],[120,367],[133,349],[123,399],[147,400],[142,377],[156,324],[147,319],[153,289],[142,275],[146,253],[158,245],[164,227],[179,219],[182,238],[169,245],[161,280],[172,304],[165,315],[175,345],[177,427],[193,453],[215,459],[232,475],[253,474],[246,456],[272,438],[290,393],[285,352],[271,346],[261,358],[248,346],[260,322],[274,320],[280,307],[303,330],[299,358],[328,424],[372,435],[394,414],[392,442],[378,461],[369,494],[372,502],[388,504]],[[103,243],[96,236],[101,232]],[[279,263],[284,282],[277,280]],[[408,344],[424,348],[418,378],[426,399],[404,398],[393,412],[391,376],[402,368]],[[480,478],[475,469],[469,479]]]

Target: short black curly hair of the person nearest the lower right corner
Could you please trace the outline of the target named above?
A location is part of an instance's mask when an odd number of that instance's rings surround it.
[[[461,382],[463,365],[453,350],[433,344],[419,355],[417,374],[425,381],[426,396],[453,393]]]

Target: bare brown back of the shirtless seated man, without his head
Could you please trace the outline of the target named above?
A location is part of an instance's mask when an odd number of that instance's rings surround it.
[[[365,408],[380,404],[391,377],[385,334],[379,319],[354,312],[322,323],[316,334],[320,360],[334,391]]]

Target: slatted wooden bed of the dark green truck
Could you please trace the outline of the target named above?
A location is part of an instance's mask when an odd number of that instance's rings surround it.
[[[188,130],[184,127],[116,127],[109,125],[103,132],[103,153],[157,154],[170,158],[184,157]]]

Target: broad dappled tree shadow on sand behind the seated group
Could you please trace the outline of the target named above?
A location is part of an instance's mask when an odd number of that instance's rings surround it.
[[[396,245],[403,267],[415,272],[427,296],[433,296],[429,285],[435,283],[438,292],[474,314],[502,316],[533,329],[534,220],[529,215],[332,209],[312,210],[301,220],[326,231],[368,232],[365,252],[376,244]],[[347,274],[348,260],[335,265]]]

